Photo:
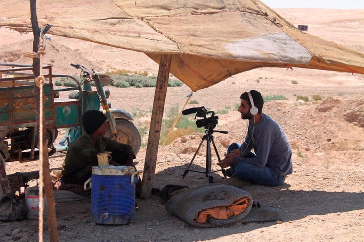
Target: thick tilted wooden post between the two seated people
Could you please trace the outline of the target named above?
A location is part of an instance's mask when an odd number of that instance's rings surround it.
[[[143,181],[140,197],[147,199],[152,195],[154,172],[157,164],[158,145],[162,127],[164,103],[167,95],[169,70],[172,56],[162,54],[157,76],[157,86],[154,94],[151,125],[144,164]]]

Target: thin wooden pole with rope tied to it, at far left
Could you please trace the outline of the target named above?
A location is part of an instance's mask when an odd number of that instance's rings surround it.
[[[40,30],[38,26],[38,20],[37,20],[37,14],[36,14],[36,0],[30,0],[30,16],[31,16],[31,23],[32,23],[32,30],[33,30],[33,52],[38,52],[38,46],[39,46],[39,37],[40,37]],[[34,80],[36,80],[40,75],[40,58],[34,57],[33,58],[33,73],[34,73]],[[40,80],[40,79],[38,79]],[[42,88],[42,85],[39,85]],[[46,137],[46,130],[44,124],[44,118],[42,115],[43,109],[39,108],[40,98],[43,98],[40,93],[40,88],[37,85],[34,85],[34,96],[36,97],[36,111],[37,111],[37,127],[39,127],[39,124],[42,124],[42,129],[39,130],[39,136]],[[36,131],[34,131],[36,132]],[[53,184],[51,179],[51,171],[50,171],[50,165],[48,160],[48,149],[47,139],[41,139],[42,143],[38,145],[40,150],[43,152],[39,152],[40,156],[40,171],[39,176],[41,179],[41,183],[44,185],[45,188],[45,200],[47,201],[47,222],[48,222],[48,230],[50,233],[50,241],[51,242],[57,242],[59,241],[59,234],[57,229],[57,219],[56,219],[56,202],[54,198],[54,192],[53,192]],[[42,186],[39,187],[39,200],[42,201],[43,198],[43,190],[41,189]],[[42,204],[41,204],[42,205]],[[41,206],[42,207],[42,206]],[[39,241],[43,240],[43,228],[42,228],[42,220],[43,216],[39,216]]]

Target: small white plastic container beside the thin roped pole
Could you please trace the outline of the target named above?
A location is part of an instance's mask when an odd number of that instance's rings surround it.
[[[39,187],[25,189],[25,204],[28,208],[27,219],[37,219],[39,217]],[[47,218],[45,208],[45,198],[43,195],[43,218]]]

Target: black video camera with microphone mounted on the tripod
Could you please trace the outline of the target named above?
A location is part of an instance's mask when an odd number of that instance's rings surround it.
[[[201,119],[196,119],[197,128],[205,127],[205,129],[214,129],[217,125],[218,116],[215,116],[214,111],[207,111],[205,107],[192,107],[182,111],[182,114],[188,115],[195,113],[196,117],[202,117]],[[206,114],[211,113],[211,116],[207,117]]]

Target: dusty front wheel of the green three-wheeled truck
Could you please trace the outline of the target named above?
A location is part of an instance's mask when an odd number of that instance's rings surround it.
[[[138,154],[142,143],[142,137],[138,128],[132,122],[122,118],[115,118],[115,126],[116,135],[113,135],[110,127],[108,127],[105,136],[117,142],[130,145],[135,155]]]

